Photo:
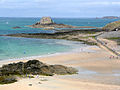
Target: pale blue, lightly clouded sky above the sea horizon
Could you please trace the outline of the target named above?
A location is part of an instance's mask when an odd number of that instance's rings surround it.
[[[0,17],[120,16],[120,0],[0,0]]]

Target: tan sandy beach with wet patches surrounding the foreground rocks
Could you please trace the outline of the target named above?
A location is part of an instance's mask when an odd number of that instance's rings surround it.
[[[110,59],[111,53],[99,47],[90,49],[93,52],[36,58],[47,64],[77,68],[78,74],[24,78],[13,84],[0,85],[0,90],[120,90],[120,59]],[[1,61],[0,66],[18,61],[27,60]]]

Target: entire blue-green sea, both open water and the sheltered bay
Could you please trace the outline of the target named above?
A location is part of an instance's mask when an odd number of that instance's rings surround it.
[[[40,21],[41,18],[18,18],[18,17],[0,17],[0,35],[16,33],[54,33],[54,30],[42,30],[30,28],[26,25],[32,25]],[[96,19],[96,18],[52,18],[56,23],[63,23],[73,26],[95,26],[104,25],[119,19]],[[19,26],[21,28],[13,29]],[[82,51],[82,48],[89,45],[82,42],[57,40],[57,39],[33,39],[0,36],[0,61],[21,59],[28,57],[42,57],[73,51]]]

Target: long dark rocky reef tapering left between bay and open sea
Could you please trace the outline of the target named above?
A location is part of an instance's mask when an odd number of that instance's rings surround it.
[[[12,37],[25,37],[25,38],[41,38],[41,39],[64,39],[71,41],[81,41],[89,45],[96,45],[94,37],[101,33],[98,29],[86,30],[60,30],[55,33],[22,33],[22,34],[9,34],[3,36]]]

